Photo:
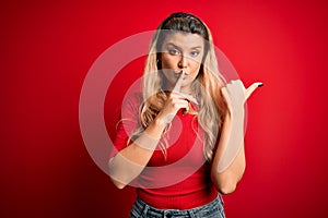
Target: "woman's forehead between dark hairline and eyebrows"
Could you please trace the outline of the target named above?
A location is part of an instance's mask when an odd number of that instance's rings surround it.
[[[167,45],[174,45],[183,49],[203,48],[204,39],[198,34],[178,32],[166,35],[163,46]]]

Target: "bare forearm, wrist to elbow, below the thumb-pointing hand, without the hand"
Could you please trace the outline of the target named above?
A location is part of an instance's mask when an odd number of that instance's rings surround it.
[[[231,193],[245,171],[244,110],[225,116],[212,164],[212,180],[222,193]]]

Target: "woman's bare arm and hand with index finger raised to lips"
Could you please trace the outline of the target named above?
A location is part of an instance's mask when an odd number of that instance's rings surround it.
[[[163,109],[144,132],[129,146],[121,149],[108,161],[113,183],[122,189],[136,179],[151,159],[167,123],[180,108],[189,107],[186,96],[179,94],[183,76],[168,96]]]

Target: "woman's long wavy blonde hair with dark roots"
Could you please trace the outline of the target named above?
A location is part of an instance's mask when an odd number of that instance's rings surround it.
[[[225,102],[221,96],[221,87],[225,81],[219,72],[218,61],[214,52],[213,39],[210,29],[198,17],[188,13],[173,13],[166,17],[157,27],[150,45],[149,56],[145,61],[142,94],[143,104],[140,107],[140,128],[134,131],[133,136],[140,135],[159,114],[167,99],[167,92],[163,92],[165,77],[161,73],[162,44],[166,36],[173,33],[191,33],[203,37],[204,52],[200,64],[199,73],[192,82],[192,92],[199,102],[196,119],[204,131],[203,155],[207,160],[212,160],[213,149],[220,137],[223,123]],[[165,133],[169,130],[166,126],[163,138],[160,143],[161,149],[166,157],[167,140]]]

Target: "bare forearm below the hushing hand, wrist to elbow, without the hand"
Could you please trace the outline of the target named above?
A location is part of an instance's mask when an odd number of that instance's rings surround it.
[[[109,160],[109,174],[117,187],[122,189],[142,172],[159,144],[164,126],[161,118],[155,119],[132,144]]]

